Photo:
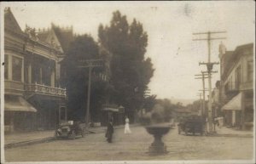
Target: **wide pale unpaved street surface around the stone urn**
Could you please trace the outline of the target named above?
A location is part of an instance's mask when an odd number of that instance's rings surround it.
[[[253,137],[185,136],[172,129],[163,140],[168,153],[149,156],[153,142],[144,127],[115,129],[113,143],[108,144],[104,133],[84,138],[60,139],[44,144],[33,144],[5,150],[6,161],[183,161],[183,160],[251,160]]]

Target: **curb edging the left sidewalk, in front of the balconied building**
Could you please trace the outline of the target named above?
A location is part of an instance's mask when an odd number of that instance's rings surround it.
[[[10,148],[15,148],[15,147],[20,147],[20,146],[25,146],[25,145],[30,145],[30,144],[40,144],[44,142],[49,142],[53,141],[55,138],[54,137],[48,137],[44,139],[33,139],[29,141],[22,141],[19,143],[14,143],[14,144],[5,144],[4,149],[10,149]]]

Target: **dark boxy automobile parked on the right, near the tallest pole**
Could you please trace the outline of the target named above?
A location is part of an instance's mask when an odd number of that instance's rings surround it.
[[[195,133],[200,133],[201,135],[203,135],[203,133],[205,133],[204,117],[202,116],[184,117],[178,123],[178,133],[181,134],[182,132],[184,132],[185,135],[188,135],[189,133],[192,133],[193,135],[195,135]]]

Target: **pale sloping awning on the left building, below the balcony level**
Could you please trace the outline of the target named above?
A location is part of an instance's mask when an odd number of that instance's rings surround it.
[[[4,96],[4,110],[37,112],[37,110],[26,101],[26,99],[15,95]]]

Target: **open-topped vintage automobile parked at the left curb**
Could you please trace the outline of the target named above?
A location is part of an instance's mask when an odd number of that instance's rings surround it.
[[[64,122],[55,130],[55,138],[68,138],[75,139],[76,136],[81,135],[84,137],[85,134],[85,123],[84,122]]]

